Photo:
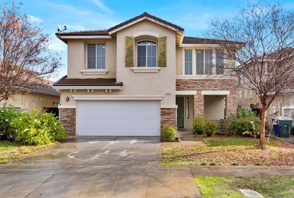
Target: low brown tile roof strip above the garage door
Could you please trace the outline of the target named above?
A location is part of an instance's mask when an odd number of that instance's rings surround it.
[[[62,77],[53,86],[123,86],[116,78],[67,78]]]

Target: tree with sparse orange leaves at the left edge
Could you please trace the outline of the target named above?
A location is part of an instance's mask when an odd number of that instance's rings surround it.
[[[49,52],[49,34],[42,34],[19,8],[14,1],[0,6],[0,101],[63,66],[60,56]]]

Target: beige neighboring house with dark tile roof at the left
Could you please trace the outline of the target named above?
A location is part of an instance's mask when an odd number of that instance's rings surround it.
[[[7,97],[6,100],[1,101],[1,104],[11,103],[15,107],[25,108],[29,112],[38,107],[40,111],[46,109],[46,112],[52,112],[59,116],[57,105],[60,102],[60,94],[53,89],[52,84],[52,81],[46,81],[46,84],[32,82],[27,85],[25,90],[21,91],[21,94]]]

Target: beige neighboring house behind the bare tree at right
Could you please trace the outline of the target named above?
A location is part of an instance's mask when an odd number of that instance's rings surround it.
[[[291,51],[294,51],[291,49]],[[264,64],[266,65],[265,68],[265,74],[264,76],[270,74],[270,70],[274,64],[275,61],[278,61],[277,59],[277,53],[273,52],[270,54],[267,54],[264,58],[261,58],[258,61],[266,61]],[[241,77],[242,78],[242,77]],[[283,76],[280,76],[280,78],[283,78]],[[254,90],[246,89],[245,83],[243,83],[242,79],[239,81],[239,84],[241,85],[239,90],[237,91],[237,105],[238,108],[243,107],[249,107],[253,111],[257,113],[261,113],[262,105],[260,103],[260,98],[257,96]],[[289,117],[294,120],[294,98],[293,98],[293,89],[288,90],[288,93],[285,93],[282,96],[276,96],[273,102],[270,104],[270,107],[266,110],[267,116],[266,116],[266,128],[265,129],[273,129],[272,118],[276,118],[279,116],[282,117]],[[269,124],[268,124],[269,123]],[[292,125],[294,126],[294,122],[292,122]]]

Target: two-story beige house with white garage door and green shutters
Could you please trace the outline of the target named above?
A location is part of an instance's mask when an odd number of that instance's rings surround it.
[[[191,129],[199,115],[235,113],[238,80],[223,76],[231,60],[216,40],[184,33],[148,13],[108,30],[56,33],[68,46],[67,76],[53,85],[68,134],[159,136],[161,124]]]

